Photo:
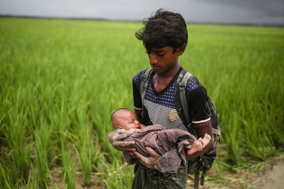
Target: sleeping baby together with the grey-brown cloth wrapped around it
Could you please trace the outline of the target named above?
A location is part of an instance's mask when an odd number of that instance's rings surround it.
[[[161,125],[145,126],[140,124],[135,113],[129,109],[118,109],[112,114],[112,126],[115,129],[125,129],[135,132],[123,141],[135,141],[136,150],[149,157],[146,153],[146,146],[162,155],[155,162],[155,169],[165,173],[176,173],[178,168],[186,165],[184,149],[187,154],[201,151],[210,141],[210,135],[205,134],[204,138],[196,140],[195,136],[181,129],[165,129]],[[123,154],[128,165],[138,162],[128,154]],[[170,163],[168,163],[170,162]]]

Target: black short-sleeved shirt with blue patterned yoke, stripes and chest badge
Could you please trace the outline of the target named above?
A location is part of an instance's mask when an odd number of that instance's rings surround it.
[[[144,118],[142,123],[147,125],[160,124],[167,129],[179,128],[188,131],[187,127],[183,124],[179,115],[177,114],[174,102],[174,90],[176,86],[176,80],[181,72],[179,71],[172,78],[169,84],[162,91],[157,92],[153,85],[153,75],[150,75],[144,101],[142,107],[141,96],[139,93],[139,81],[142,75],[142,71],[138,72],[133,77],[133,99],[134,108],[142,109]],[[194,78],[187,88],[187,104],[189,107],[189,114],[191,116],[192,123],[202,123],[210,120],[210,113],[206,107],[208,97],[206,89]]]

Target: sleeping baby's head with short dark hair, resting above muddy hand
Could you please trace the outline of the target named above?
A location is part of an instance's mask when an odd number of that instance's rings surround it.
[[[112,126],[115,129],[141,129],[135,113],[126,108],[118,109],[112,114]]]

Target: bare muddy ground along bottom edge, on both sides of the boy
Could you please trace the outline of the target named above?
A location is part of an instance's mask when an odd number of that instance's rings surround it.
[[[59,188],[62,188],[63,174],[60,168],[51,169],[51,174]],[[93,172],[93,176],[99,176],[100,173]],[[261,170],[244,169],[238,173],[225,172],[222,179],[218,179],[218,173],[211,169],[206,174],[204,186],[200,189],[282,189],[284,188],[284,154],[276,158],[269,158]],[[219,176],[220,177],[220,176]],[[193,179],[188,177],[186,189],[193,188]],[[76,172],[76,189],[104,189],[107,188],[103,181],[97,178],[91,179],[91,185],[83,185],[80,171]]]

